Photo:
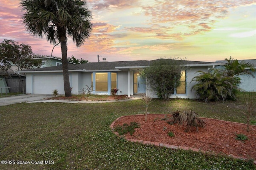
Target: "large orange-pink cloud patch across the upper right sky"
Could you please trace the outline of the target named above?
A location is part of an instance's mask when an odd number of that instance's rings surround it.
[[[229,8],[249,4],[255,4],[255,1],[157,1],[154,5],[142,6],[142,12],[150,17],[150,23],[182,26],[184,29],[190,29],[184,35],[192,35],[198,34],[198,31],[203,33],[212,29],[216,20],[228,16]]]

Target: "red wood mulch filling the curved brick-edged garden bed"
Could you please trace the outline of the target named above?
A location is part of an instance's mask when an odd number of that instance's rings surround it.
[[[114,127],[136,122],[140,123],[140,128],[136,128],[132,136],[128,133],[125,137],[256,159],[256,126],[250,125],[248,133],[246,124],[202,118],[206,125],[204,128],[199,127],[198,133],[194,127],[190,132],[184,132],[185,127],[170,125],[161,120],[164,117],[165,115],[147,115],[147,121],[145,121],[145,115],[124,116],[114,123]],[[164,127],[167,129],[164,130]],[[168,136],[170,131],[175,134],[175,137]],[[239,133],[246,135],[249,140],[236,140],[236,134]]]

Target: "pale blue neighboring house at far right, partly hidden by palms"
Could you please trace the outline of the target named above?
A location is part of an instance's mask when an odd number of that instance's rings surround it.
[[[253,78],[252,76],[247,75],[247,74],[240,75],[239,77],[241,78],[241,83],[239,84],[238,87],[241,88],[241,90],[244,90],[246,92],[256,92],[256,59],[238,60],[238,63],[240,63],[241,61],[254,64],[255,70],[254,71],[250,70],[250,72],[252,72],[252,74],[254,75],[255,78]],[[227,61],[226,60],[216,61],[215,63],[227,63]],[[216,68],[224,68],[224,67],[217,66]],[[247,69],[250,69],[250,68],[247,68]]]

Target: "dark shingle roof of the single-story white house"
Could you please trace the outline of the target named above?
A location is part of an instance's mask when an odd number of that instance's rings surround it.
[[[156,61],[156,60],[153,60]],[[97,63],[84,63],[84,64],[68,64],[68,70],[118,70],[116,67],[136,67],[136,66],[149,66],[150,62],[147,60],[139,61],[113,61],[113,62],[97,62]],[[182,64],[216,64],[203,61],[181,61]],[[62,70],[62,66],[51,66],[45,68],[34,68],[30,70],[23,70],[22,72],[30,71],[58,71]]]

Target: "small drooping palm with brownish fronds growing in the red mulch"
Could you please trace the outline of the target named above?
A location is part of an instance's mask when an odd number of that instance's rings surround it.
[[[204,127],[205,122],[198,117],[194,111],[182,111],[172,114],[173,123],[178,123],[178,125],[186,125],[186,131],[190,131],[190,127],[196,127],[196,132],[198,132],[198,127]]]

